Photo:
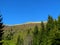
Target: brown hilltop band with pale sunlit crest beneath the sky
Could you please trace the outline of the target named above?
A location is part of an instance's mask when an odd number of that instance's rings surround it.
[[[44,22],[46,23],[46,22]],[[24,24],[15,24],[15,25],[5,25],[4,29],[5,30],[26,30],[26,29],[33,29],[36,25],[40,27],[41,22],[27,22]]]

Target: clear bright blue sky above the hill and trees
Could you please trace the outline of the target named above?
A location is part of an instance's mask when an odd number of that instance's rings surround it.
[[[4,24],[46,21],[58,17],[60,0],[0,0],[0,10]]]

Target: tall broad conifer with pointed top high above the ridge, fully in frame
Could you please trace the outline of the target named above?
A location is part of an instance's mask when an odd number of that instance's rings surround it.
[[[54,20],[52,16],[48,16],[48,21],[46,24],[46,45],[51,45],[54,31]]]

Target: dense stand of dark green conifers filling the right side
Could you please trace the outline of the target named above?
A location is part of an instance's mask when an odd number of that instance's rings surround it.
[[[53,19],[48,16],[46,24],[41,22],[40,31],[35,27],[32,45],[60,45],[60,16]]]

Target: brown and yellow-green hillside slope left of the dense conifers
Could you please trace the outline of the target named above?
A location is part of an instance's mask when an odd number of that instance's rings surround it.
[[[26,24],[20,24],[20,25],[13,25],[13,26],[5,26],[4,27],[4,44],[3,45],[15,45],[17,42],[18,35],[20,35],[20,38],[23,41],[24,45],[28,45],[27,43],[30,43],[29,40],[32,39],[32,33],[35,26],[38,26],[40,29],[40,23],[26,23]],[[28,35],[28,31],[30,31],[30,35]],[[6,39],[7,36],[12,33],[12,39]],[[8,37],[11,38],[11,37]],[[31,38],[31,39],[30,39]]]

